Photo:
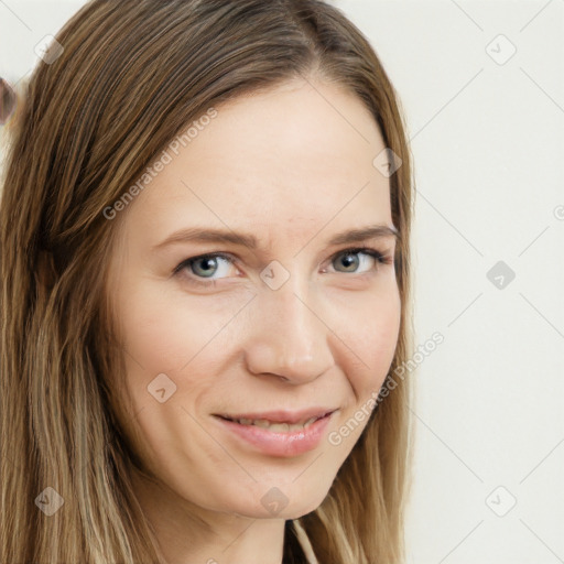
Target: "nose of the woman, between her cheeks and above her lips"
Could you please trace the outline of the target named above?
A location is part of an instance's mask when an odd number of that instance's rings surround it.
[[[333,334],[313,300],[297,294],[292,278],[280,289],[265,289],[249,312],[246,344],[248,369],[257,376],[273,375],[293,384],[306,383],[333,365],[329,337]],[[317,303],[317,302],[316,302]]]

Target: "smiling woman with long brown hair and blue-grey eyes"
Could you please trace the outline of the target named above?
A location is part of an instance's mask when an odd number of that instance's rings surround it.
[[[318,0],[94,0],[1,202],[1,562],[401,562],[410,155]],[[393,383],[393,386],[391,386]]]

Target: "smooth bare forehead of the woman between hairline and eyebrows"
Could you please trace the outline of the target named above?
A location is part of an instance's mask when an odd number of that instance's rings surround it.
[[[391,224],[389,180],[372,164],[384,143],[356,96],[290,83],[202,123],[128,210],[148,245],[194,223],[301,241],[323,225]]]

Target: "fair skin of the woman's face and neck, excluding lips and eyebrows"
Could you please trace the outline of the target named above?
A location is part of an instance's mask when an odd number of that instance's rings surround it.
[[[346,90],[295,80],[218,107],[218,116],[123,212],[110,289],[122,327],[128,437],[155,477],[133,475],[169,564],[280,564],[284,521],[316,509],[367,419],[339,445],[327,435],[378,391],[399,335],[393,236],[328,246],[337,232],[393,227],[389,178],[372,164],[384,149],[362,102]],[[261,247],[177,242],[186,227],[254,234]],[[206,263],[188,258],[223,251]],[[271,261],[290,278],[261,279]],[[204,272],[204,273],[203,273]],[[276,274],[279,275],[279,274]],[[176,391],[148,391],[165,373]],[[213,414],[337,409],[319,446],[265,455]],[[278,488],[288,505],[269,512]]]

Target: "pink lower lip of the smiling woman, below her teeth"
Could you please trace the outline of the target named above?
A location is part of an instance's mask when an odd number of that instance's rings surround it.
[[[217,415],[215,419],[225,429],[264,454],[271,456],[296,456],[313,451],[319,445],[333,413],[318,419],[305,429],[286,432],[269,431],[256,425],[241,425]]]

